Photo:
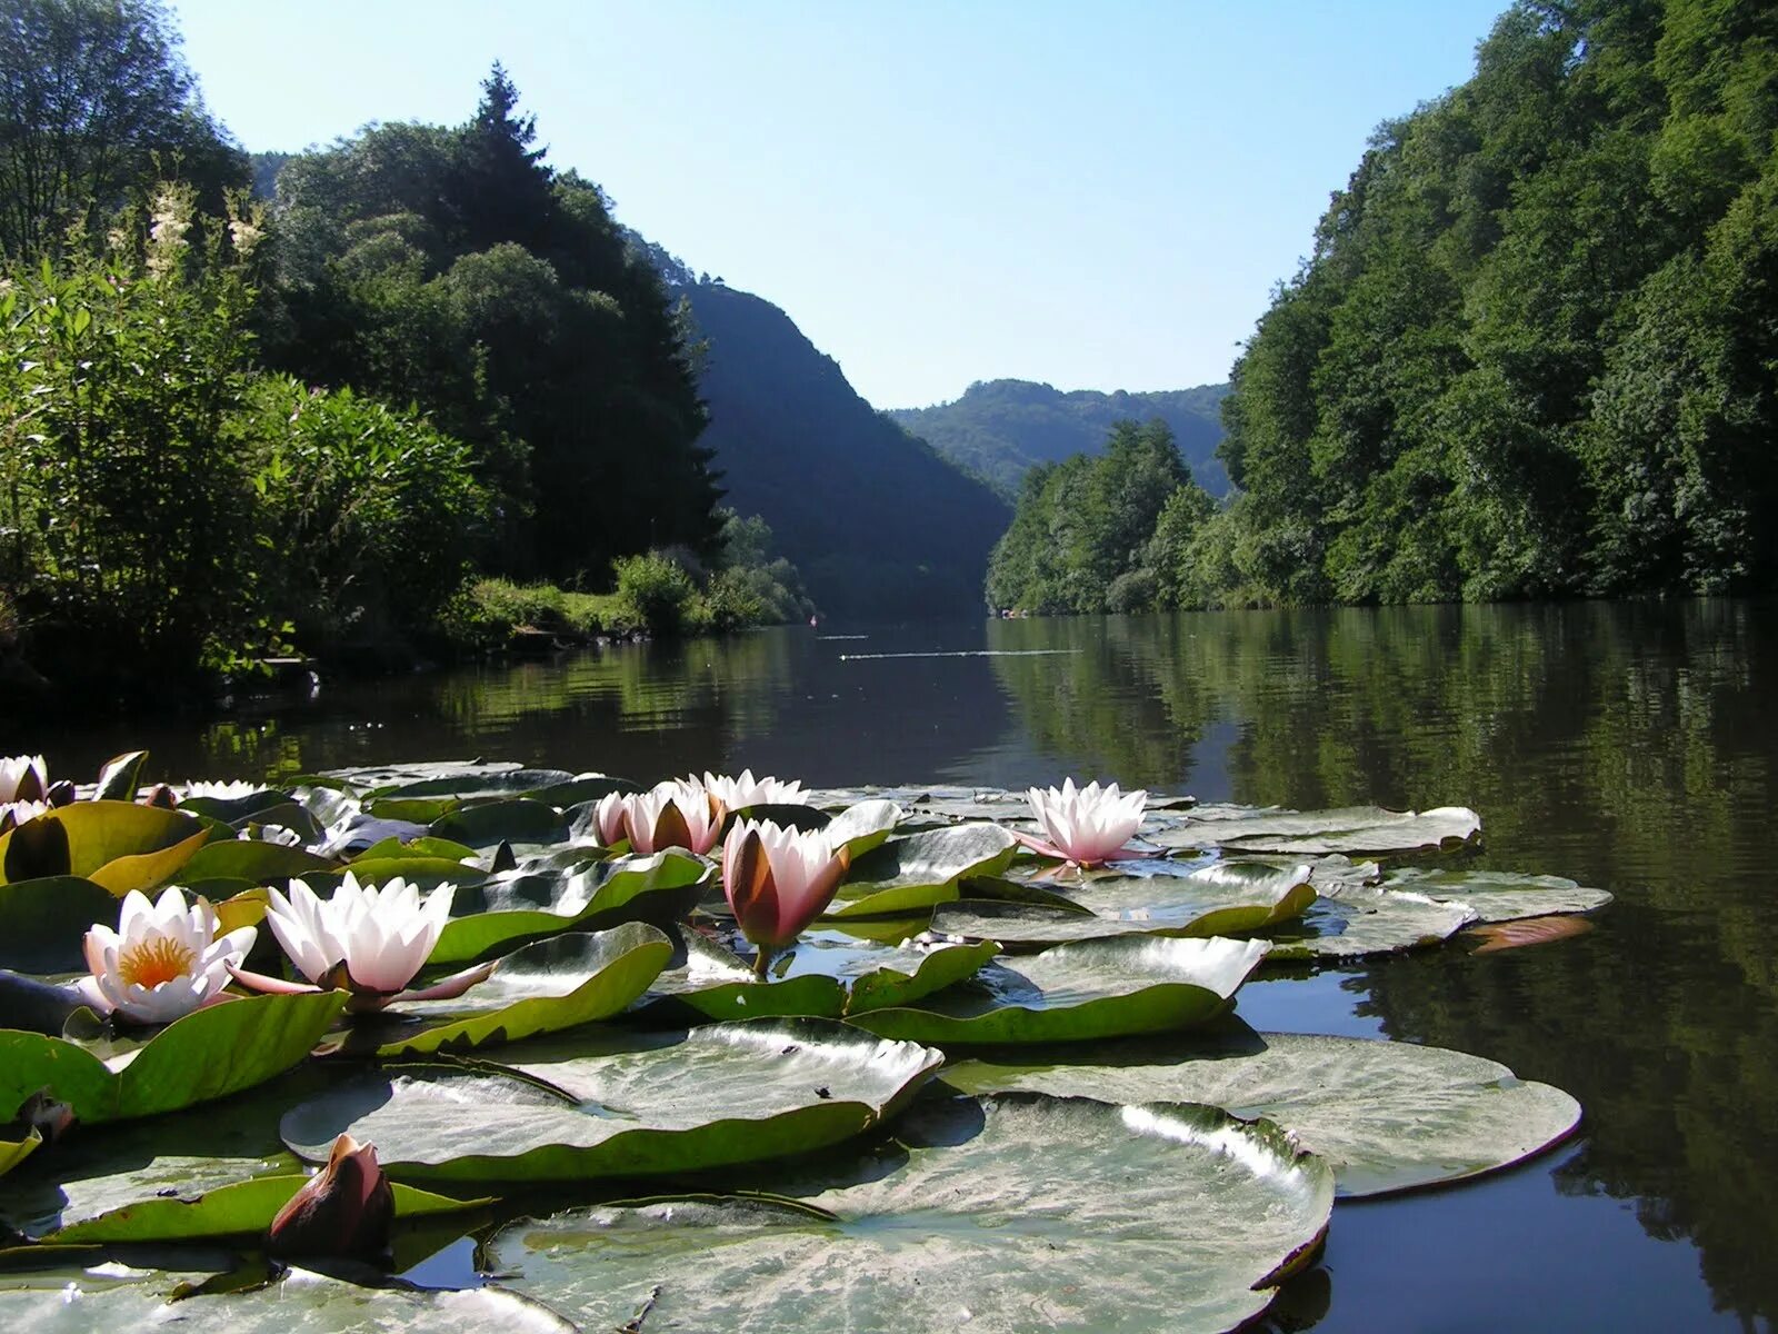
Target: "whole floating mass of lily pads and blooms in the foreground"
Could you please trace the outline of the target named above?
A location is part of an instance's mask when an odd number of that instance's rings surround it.
[[[142,767],[0,761],[7,1325],[1223,1330],[1581,1115],[1232,1014],[1609,902],[1462,808]]]

